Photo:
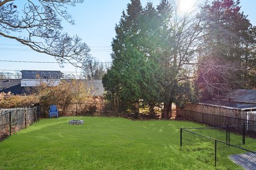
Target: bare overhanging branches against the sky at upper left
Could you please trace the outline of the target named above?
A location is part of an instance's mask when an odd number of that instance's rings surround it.
[[[74,24],[67,6],[83,0],[32,0],[15,5],[15,0],[0,1],[0,37],[17,40],[38,53],[54,56],[63,66],[68,61],[75,66],[88,56],[90,48],[78,36],[62,32],[61,18]]]

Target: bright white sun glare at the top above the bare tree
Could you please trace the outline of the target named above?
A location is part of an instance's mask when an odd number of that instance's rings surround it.
[[[196,8],[197,0],[178,0],[179,13],[186,14],[193,12]]]

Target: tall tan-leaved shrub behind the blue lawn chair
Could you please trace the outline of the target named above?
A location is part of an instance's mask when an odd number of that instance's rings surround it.
[[[48,115],[50,105],[58,105],[61,115],[70,115],[75,110],[72,103],[90,103],[92,101],[91,88],[82,80],[61,81],[58,86],[48,87],[41,83],[34,89],[39,97],[43,116]],[[72,114],[72,113],[71,113]]]

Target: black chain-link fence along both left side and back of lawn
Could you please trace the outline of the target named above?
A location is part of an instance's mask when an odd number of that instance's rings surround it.
[[[134,112],[132,109],[127,109],[123,106],[116,106],[102,103],[69,103],[56,104],[59,116],[121,116],[133,118]],[[39,118],[49,117],[50,105],[40,105],[33,108],[9,109],[0,111],[0,141],[7,138],[12,133],[26,128],[33,124]],[[140,113],[140,118],[159,118],[162,114],[163,106],[154,108],[154,115],[150,115],[145,109],[145,112]],[[2,113],[1,113],[2,112]]]

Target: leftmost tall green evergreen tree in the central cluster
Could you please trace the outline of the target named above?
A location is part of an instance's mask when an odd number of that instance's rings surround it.
[[[127,13],[127,14],[126,14]],[[136,103],[135,114],[138,115],[138,102],[140,99],[140,88],[138,87],[140,54],[136,48],[136,37],[140,32],[139,18],[142,13],[142,6],[139,0],[132,0],[127,5],[127,11],[123,12],[119,24],[116,25],[116,36],[113,39],[113,65],[103,78],[103,86],[106,90],[108,86],[115,86],[115,91],[110,91],[111,95],[120,103]],[[111,74],[116,73],[116,77]],[[110,75],[109,75],[110,74]],[[112,79],[111,79],[112,78]],[[110,80],[107,80],[110,79]],[[108,83],[106,83],[108,82]],[[113,98],[112,97],[112,98]]]

